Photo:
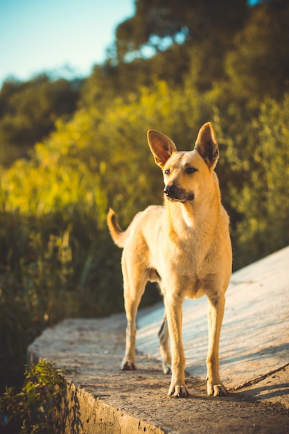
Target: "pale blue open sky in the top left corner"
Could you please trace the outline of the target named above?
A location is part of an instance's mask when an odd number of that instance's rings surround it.
[[[134,0],[0,0],[0,87],[64,67],[89,75],[132,15]]]

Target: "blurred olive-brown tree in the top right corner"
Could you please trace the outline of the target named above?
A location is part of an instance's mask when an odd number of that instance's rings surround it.
[[[251,105],[265,95],[280,99],[289,89],[288,22],[288,1],[255,6],[227,55],[231,85]]]

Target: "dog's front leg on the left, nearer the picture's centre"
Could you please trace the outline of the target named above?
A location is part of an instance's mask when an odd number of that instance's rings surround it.
[[[182,304],[183,299],[177,294],[166,293],[164,302],[170,334],[172,350],[172,378],[168,395],[173,397],[187,397],[189,394],[184,379],[184,347],[182,345]]]

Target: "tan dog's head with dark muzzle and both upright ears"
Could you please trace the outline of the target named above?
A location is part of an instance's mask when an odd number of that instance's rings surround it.
[[[164,174],[166,200],[192,201],[201,188],[209,188],[219,157],[218,141],[210,122],[200,129],[192,151],[177,152],[173,141],[155,130],[148,131],[148,144]]]

